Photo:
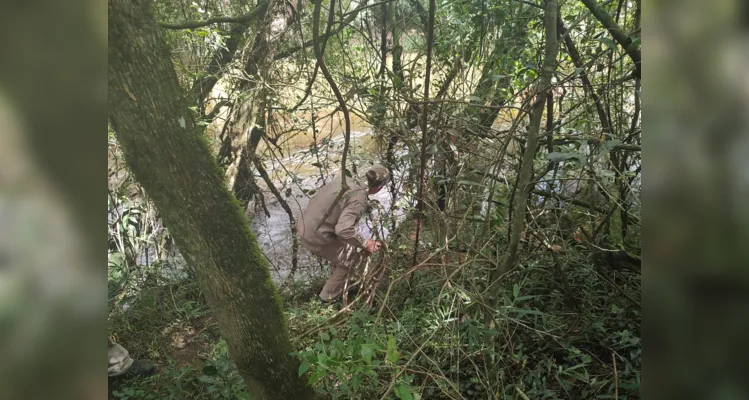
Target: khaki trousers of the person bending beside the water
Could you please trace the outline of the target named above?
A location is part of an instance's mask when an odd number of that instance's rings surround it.
[[[361,262],[362,252],[359,252],[356,247],[340,240],[335,240],[323,246],[316,246],[302,239],[302,245],[311,251],[312,254],[330,261],[333,265],[333,273],[328,278],[328,281],[325,282],[325,286],[323,286],[320,292],[320,298],[330,301],[340,296],[343,293],[343,286],[352,269]]]

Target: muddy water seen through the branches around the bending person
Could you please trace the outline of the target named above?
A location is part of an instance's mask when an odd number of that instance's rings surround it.
[[[371,130],[359,130],[351,133],[352,152],[349,161],[347,161],[349,169],[352,163],[357,163],[360,166],[359,172],[363,173],[366,166],[369,165],[368,161],[376,153],[371,134]],[[344,138],[342,135],[334,136],[326,142],[324,149],[321,149],[322,154],[320,158],[327,158],[327,163],[329,164],[329,168],[325,169],[322,174],[318,167],[311,166],[311,163],[315,162],[317,158],[305,150],[298,150],[286,158],[275,159],[265,163],[266,170],[273,177],[274,185],[282,193],[284,200],[291,208],[295,220],[299,218],[302,210],[307,206],[310,196],[313,194],[310,191],[319,189],[324,184],[324,181],[328,181],[334,174],[339,173],[343,142]],[[323,154],[328,155],[328,157],[323,157]],[[324,180],[322,176],[325,177]],[[257,235],[258,243],[268,259],[274,282],[281,284],[289,276],[289,272],[291,271],[293,259],[292,232],[295,230],[292,231],[288,214],[276,197],[268,190],[262,178],[257,176],[256,180],[265,197],[265,209],[259,204],[251,203],[249,206],[250,223]],[[402,177],[396,175],[395,182],[396,192],[401,193]],[[392,211],[393,198],[389,189],[390,186],[388,185],[380,193],[370,196],[370,200],[377,202],[379,205],[374,207],[370,215],[362,218],[359,224],[359,229],[365,237],[387,238],[390,234],[388,228],[392,227],[391,216],[394,216],[397,222],[402,221],[405,214],[403,208],[412,203],[412,199],[406,196],[399,196],[396,204],[402,208]],[[265,210],[267,210],[268,215],[265,214]],[[122,204],[112,207],[108,213],[110,225],[114,224],[119,215],[124,211]],[[375,222],[383,220],[384,223]],[[158,236],[164,229],[161,221],[158,221],[153,229],[152,237]],[[153,244],[145,244],[144,242],[137,249],[136,263],[138,265],[150,265],[157,260],[159,260],[159,256]],[[160,273],[164,277],[177,278],[184,276],[186,264],[178,253],[170,252],[163,261],[166,262],[160,266]],[[329,270],[323,268],[323,265],[316,257],[300,247],[295,279],[327,275]]]

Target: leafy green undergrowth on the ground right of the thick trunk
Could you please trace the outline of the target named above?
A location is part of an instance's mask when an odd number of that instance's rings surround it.
[[[393,399],[638,398],[640,312],[611,287],[624,282],[636,298],[638,278],[593,271],[570,266],[565,293],[548,265],[521,266],[502,286],[492,329],[470,294],[476,282],[423,272],[396,289],[381,320],[356,312],[300,341],[301,369],[334,399],[388,389]]]

